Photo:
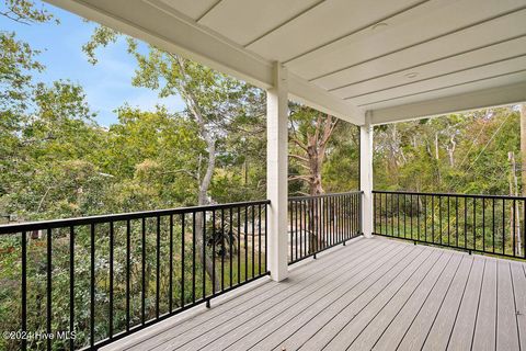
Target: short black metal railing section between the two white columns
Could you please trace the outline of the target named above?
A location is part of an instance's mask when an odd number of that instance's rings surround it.
[[[288,199],[288,263],[362,234],[362,192]]]

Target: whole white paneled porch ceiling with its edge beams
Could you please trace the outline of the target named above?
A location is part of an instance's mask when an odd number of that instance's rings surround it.
[[[47,0],[363,125],[526,101],[526,0]]]

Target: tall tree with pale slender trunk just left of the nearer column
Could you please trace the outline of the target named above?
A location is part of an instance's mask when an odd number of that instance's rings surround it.
[[[99,26],[91,41],[83,46],[91,63],[96,64],[95,50],[100,46],[115,43],[121,34],[114,30]],[[225,135],[239,116],[258,113],[254,102],[261,101],[261,91],[240,82],[229,76],[221,75],[203,65],[183,57],[149,46],[147,53],[139,48],[137,41],[126,37],[128,52],[137,61],[133,78],[135,87],[145,87],[158,92],[160,98],[181,97],[185,102],[185,114],[192,118],[205,147],[195,158],[197,170],[197,205],[207,205],[211,197],[209,189],[216,171],[219,148],[224,145]],[[172,151],[176,151],[175,149]],[[191,169],[185,169],[191,172]],[[196,225],[197,247],[203,247],[203,218],[201,214]],[[202,254],[202,250],[198,250]],[[201,257],[209,276],[213,276],[211,260]],[[216,282],[218,284],[218,282]]]

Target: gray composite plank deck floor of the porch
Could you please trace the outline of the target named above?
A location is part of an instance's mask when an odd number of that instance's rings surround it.
[[[359,238],[129,350],[526,350],[526,264]]]

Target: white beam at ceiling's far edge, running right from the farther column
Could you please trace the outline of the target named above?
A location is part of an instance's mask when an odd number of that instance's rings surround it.
[[[526,82],[478,90],[405,105],[371,110],[375,125],[526,102]]]

